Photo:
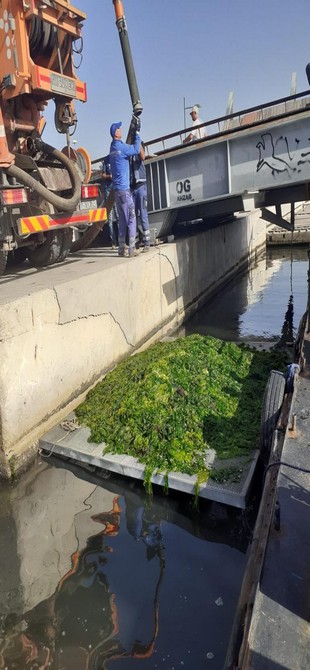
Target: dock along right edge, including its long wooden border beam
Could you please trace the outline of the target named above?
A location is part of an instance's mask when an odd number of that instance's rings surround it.
[[[226,670],[310,668],[310,331],[274,431]],[[284,405],[285,406],[285,401]]]

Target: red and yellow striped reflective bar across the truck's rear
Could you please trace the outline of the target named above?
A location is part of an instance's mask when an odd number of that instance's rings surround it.
[[[91,223],[107,220],[107,210],[105,207],[98,209],[89,209],[83,212],[74,212],[71,216],[49,216],[41,214],[40,216],[26,216],[17,219],[18,234],[29,235],[29,233],[40,233],[51,228],[63,228],[63,226],[85,226]]]

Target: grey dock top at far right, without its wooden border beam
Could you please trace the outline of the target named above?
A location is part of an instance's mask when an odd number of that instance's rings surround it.
[[[249,670],[310,668],[310,334],[298,379],[248,638]],[[243,667],[243,666],[242,666]]]

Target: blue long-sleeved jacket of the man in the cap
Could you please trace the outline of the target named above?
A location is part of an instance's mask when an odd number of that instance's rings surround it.
[[[134,144],[126,144],[122,140],[114,139],[110,146],[110,163],[113,189],[128,191],[129,189],[129,159],[140,152],[141,139],[137,133]]]

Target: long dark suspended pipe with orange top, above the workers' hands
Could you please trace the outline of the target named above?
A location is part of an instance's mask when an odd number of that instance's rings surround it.
[[[127,81],[130,91],[130,97],[132,102],[133,113],[136,116],[139,116],[142,113],[142,105],[140,102],[140,96],[138,91],[138,85],[135,75],[135,70],[132,61],[131,49],[129,44],[127,24],[124,15],[123,3],[122,0],[112,0],[114,5],[115,17],[116,17],[116,27],[118,30],[121,48],[123,53],[123,59],[125,63]]]

